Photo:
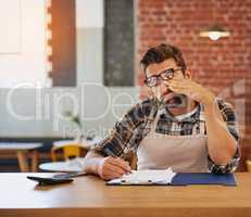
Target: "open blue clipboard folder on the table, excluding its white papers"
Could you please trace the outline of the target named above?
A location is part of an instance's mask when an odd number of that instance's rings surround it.
[[[106,186],[190,186],[190,184],[217,184],[236,187],[236,178],[234,174],[210,174],[210,173],[178,173],[171,182],[152,182],[151,180],[143,182],[121,182],[106,181]]]

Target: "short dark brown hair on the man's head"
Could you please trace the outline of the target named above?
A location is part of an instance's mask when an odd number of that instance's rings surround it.
[[[176,64],[183,68],[183,73],[185,74],[187,66],[181,51],[177,47],[166,43],[161,43],[156,47],[150,48],[142,56],[140,64],[146,74],[146,69],[150,64],[162,63],[167,59],[174,59]]]

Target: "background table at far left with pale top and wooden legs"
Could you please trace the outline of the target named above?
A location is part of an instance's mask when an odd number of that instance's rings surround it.
[[[27,143],[27,142],[0,142],[0,151],[14,151],[16,152],[20,170],[23,173],[37,171],[38,168],[38,148],[42,143]],[[32,156],[32,166],[28,165],[28,154]]]

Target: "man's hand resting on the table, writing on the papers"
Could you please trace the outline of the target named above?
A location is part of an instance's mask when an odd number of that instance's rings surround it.
[[[120,178],[129,171],[130,166],[128,162],[120,157],[104,157],[98,165],[98,175],[104,180]]]

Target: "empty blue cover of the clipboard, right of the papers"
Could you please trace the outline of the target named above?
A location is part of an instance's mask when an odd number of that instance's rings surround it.
[[[221,186],[237,186],[234,174],[176,174],[172,180],[172,186],[188,186],[188,184],[221,184]]]

